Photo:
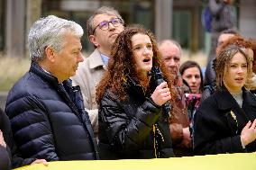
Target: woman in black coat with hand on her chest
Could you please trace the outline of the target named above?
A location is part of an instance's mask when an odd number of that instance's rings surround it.
[[[247,50],[235,45],[216,58],[216,92],[195,115],[195,154],[256,151],[256,97],[244,86],[251,77],[251,64]]]

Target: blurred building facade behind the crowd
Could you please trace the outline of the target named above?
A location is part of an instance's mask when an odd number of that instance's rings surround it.
[[[206,51],[209,46],[209,36],[201,24],[206,0],[0,0],[0,51],[11,57],[26,56],[32,22],[49,14],[74,20],[87,32],[87,18],[102,5],[117,9],[126,24],[144,25],[157,40],[177,40],[192,52]],[[255,39],[256,1],[236,1],[234,5],[242,35]],[[86,33],[82,44],[87,51],[93,49]]]

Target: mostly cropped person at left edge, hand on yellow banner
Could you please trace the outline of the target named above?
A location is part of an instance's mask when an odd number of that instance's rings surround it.
[[[5,112],[0,108],[0,169],[9,170],[30,164],[43,164],[48,166],[45,159],[26,158],[18,156],[14,145],[10,121]]]

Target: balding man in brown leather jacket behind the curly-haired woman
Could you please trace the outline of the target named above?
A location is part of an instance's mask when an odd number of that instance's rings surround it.
[[[161,40],[158,47],[169,73],[174,77],[173,85],[177,95],[172,104],[169,126],[173,151],[176,157],[192,156],[192,142],[184,94],[188,90],[183,88],[184,85],[179,74],[181,47],[175,40]]]

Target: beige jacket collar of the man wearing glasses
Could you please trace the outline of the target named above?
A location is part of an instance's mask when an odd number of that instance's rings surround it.
[[[104,69],[106,69],[98,49],[95,49],[94,52],[88,57],[88,63],[90,69],[94,69],[96,67],[104,67]]]

